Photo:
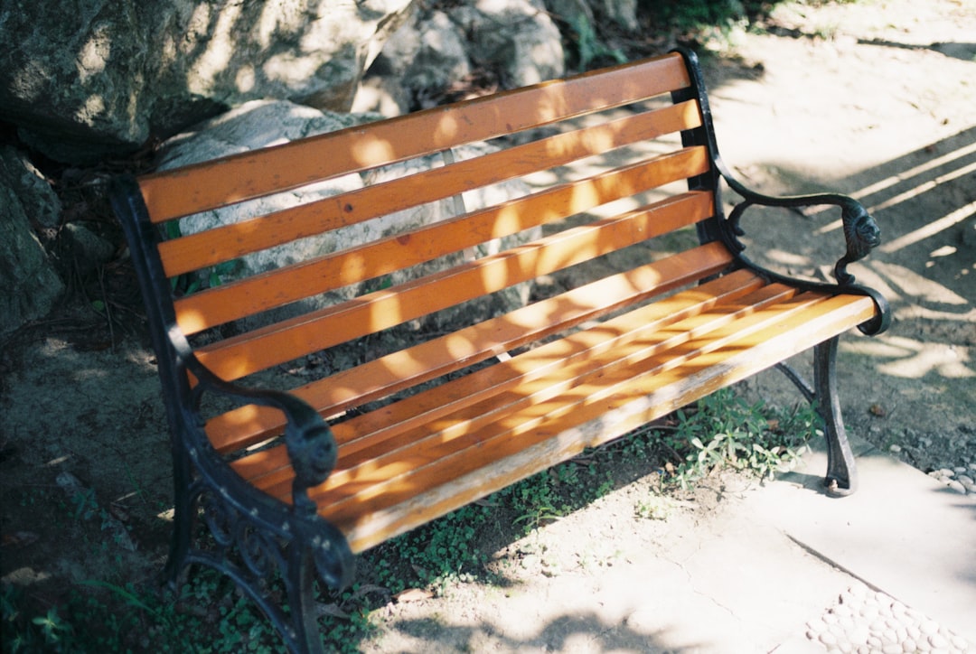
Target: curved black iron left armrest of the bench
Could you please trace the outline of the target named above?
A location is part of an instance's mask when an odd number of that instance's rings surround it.
[[[217,392],[278,409],[285,415],[285,449],[295,470],[292,500],[299,514],[313,515],[315,504],[308,498],[308,488],[325,481],[336,466],[338,446],[328,424],[305,400],[281,390],[246,388],[224,382],[204,366],[192,353],[183,358],[186,369],[197,385],[192,389],[194,408],[199,408],[204,392]]]

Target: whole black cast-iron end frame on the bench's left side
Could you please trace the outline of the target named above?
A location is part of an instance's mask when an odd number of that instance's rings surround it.
[[[332,431],[298,397],[228,384],[200,363],[177,327],[169,280],[157,251],[158,230],[149,222],[136,180],[130,176],[113,180],[111,200],[142,289],[172,434],[174,534],[164,581],[176,588],[187,566],[194,563],[215,568],[264,610],[289,649],[320,652],[314,583],[318,579],[331,588],[343,588],[351,582],[355,565],[346,537],[317,515],[307,493],[325,481],[335,466]],[[196,380],[192,388],[187,372]],[[284,413],[285,445],[296,472],[291,506],[241,479],[211,446],[199,410],[207,393]],[[201,515],[213,545],[194,538]],[[275,579],[284,584],[287,614],[268,598],[269,584]]]

